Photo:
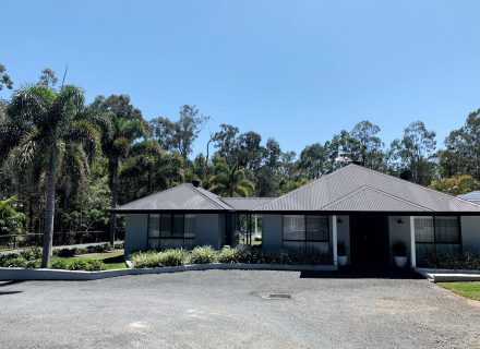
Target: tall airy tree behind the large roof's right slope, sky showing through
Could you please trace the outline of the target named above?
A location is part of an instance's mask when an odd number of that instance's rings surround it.
[[[411,171],[413,182],[429,185],[435,177],[435,164],[432,161],[435,147],[435,132],[427,130],[423,122],[415,121],[404,130],[401,140],[392,142],[391,158],[399,161],[394,166]]]

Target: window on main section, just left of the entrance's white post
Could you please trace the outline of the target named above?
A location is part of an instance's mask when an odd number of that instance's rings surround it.
[[[327,252],[327,216],[284,216],[284,248]]]

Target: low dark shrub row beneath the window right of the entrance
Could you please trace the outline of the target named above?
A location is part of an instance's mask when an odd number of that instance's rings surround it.
[[[480,253],[434,253],[427,257],[424,265],[429,268],[439,269],[480,270]]]

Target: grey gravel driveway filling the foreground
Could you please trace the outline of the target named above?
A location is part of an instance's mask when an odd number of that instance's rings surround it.
[[[480,348],[480,302],[421,279],[308,276],[5,282],[0,348]]]

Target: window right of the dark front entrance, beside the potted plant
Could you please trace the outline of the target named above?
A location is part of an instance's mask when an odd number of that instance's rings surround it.
[[[416,217],[415,243],[419,264],[432,253],[461,252],[459,218],[444,217]]]

